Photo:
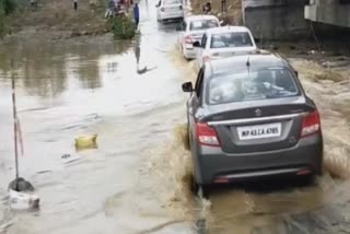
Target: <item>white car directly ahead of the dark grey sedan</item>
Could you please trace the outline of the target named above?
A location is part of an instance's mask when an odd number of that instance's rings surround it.
[[[201,42],[195,42],[196,63],[201,68],[202,63],[210,59],[231,57],[257,50],[250,31],[245,26],[222,26],[208,30]]]

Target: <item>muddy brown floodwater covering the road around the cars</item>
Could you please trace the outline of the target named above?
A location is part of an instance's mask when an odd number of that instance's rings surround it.
[[[156,23],[155,3],[141,2],[141,35],[130,43],[13,37],[1,46],[0,233],[350,232],[349,70],[290,57],[323,116],[322,177],[218,187],[199,199],[189,190],[180,91],[196,72],[175,48],[176,23]],[[40,197],[38,211],[12,211],[5,199],[14,176],[12,75],[20,173]],[[96,149],[75,150],[75,137],[95,133]]]

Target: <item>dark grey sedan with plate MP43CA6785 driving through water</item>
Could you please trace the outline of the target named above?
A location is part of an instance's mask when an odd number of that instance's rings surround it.
[[[315,103],[283,58],[250,52],[206,62],[189,92],[195,189],[241,179],[322,173]],[[205,191],[206,192],[206,191]]]

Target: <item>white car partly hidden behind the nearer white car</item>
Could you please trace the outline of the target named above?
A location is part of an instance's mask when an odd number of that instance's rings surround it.
[[[180,31],[177,44],[184,57],[186,59],[196,58],[194,43],[201,40],[206,30],[219,26],[219,19],[214,15],[194,15],[186,17],[182,25],[176,28]]]

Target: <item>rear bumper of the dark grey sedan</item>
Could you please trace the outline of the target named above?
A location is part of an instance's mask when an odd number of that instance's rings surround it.
[[[323,141],[318,136],[300,140],[294,148],[272,152],[226,154],[211,147],[197,150],[196,179],[205,185],[281,174],[318,174],[323,162]]]

